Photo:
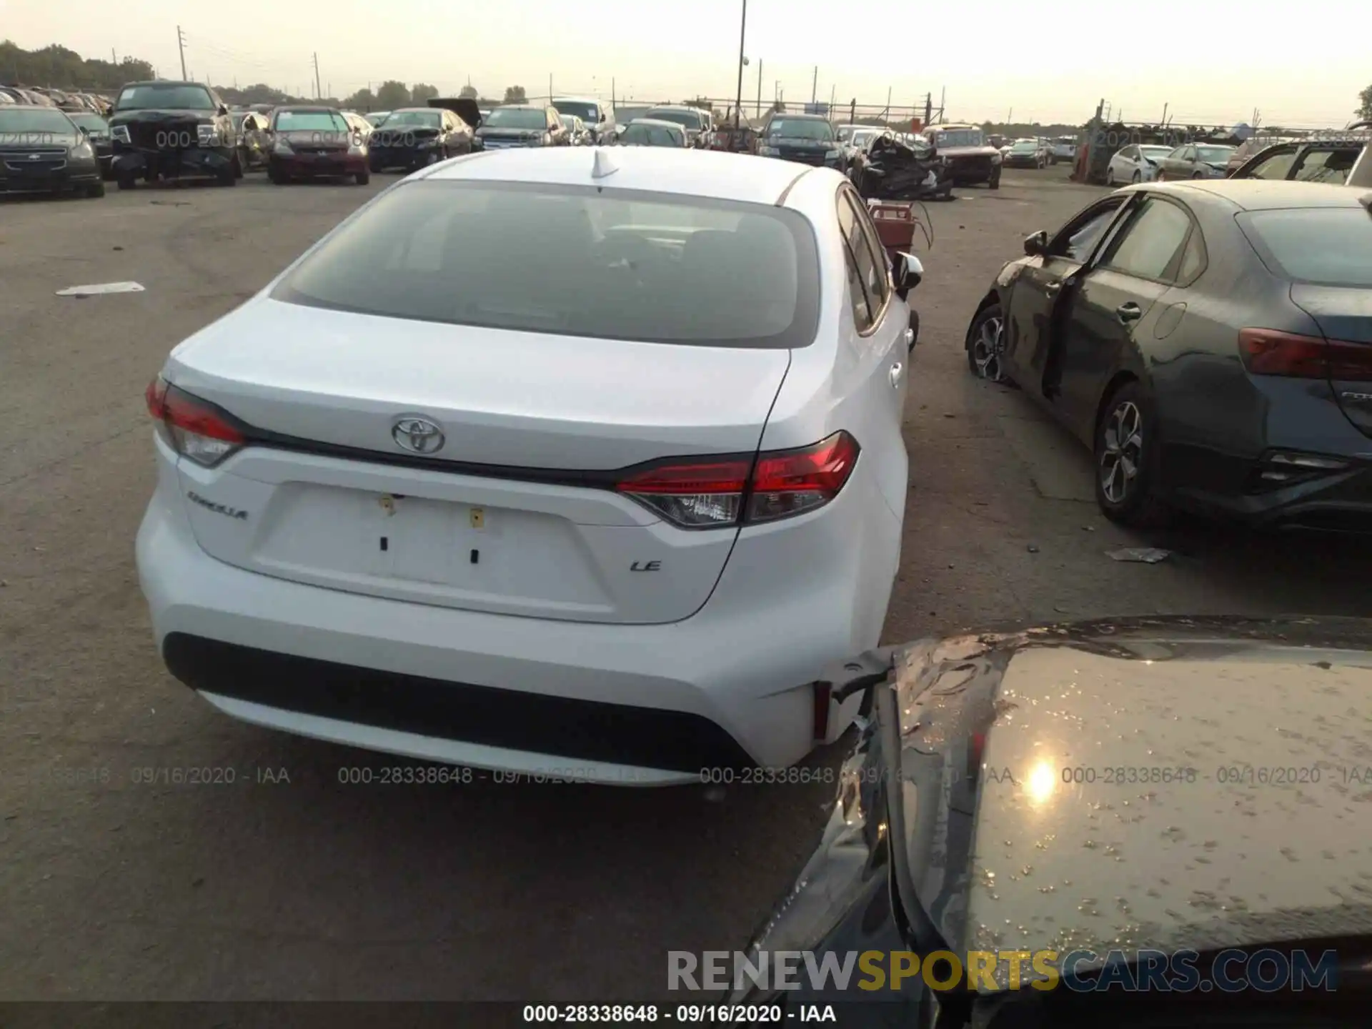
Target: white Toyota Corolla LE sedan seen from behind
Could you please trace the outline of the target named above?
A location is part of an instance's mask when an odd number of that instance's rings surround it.
[[[468,767],[797,761],[886,615],[919,276],[833,170],[407,177],[150,384],[162,659],[246,722]]]

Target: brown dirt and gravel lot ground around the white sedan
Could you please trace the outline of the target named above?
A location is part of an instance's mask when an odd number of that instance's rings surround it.
[[[818,838],[822,785],[340,785],[340,768],[395,760],[237,724],[163,671],[133,569],[152,490],[143,390],[172,346],[390,181],[0,202],[0,997],[650,997],[667,949],[741,947]],[[1088,456],[969,376],[963,331],[1002,261],[1095,195],[1048,169],[930,206],[888,639],[1372,613],[1365,543],[1114,528]],[[54,295],[113,280],[147,291]],[[1140,543],[1176,554],[1106,557]],[[237,781],[150,786],[145,767]]]

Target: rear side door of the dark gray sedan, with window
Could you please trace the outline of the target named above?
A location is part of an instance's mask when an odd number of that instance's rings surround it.
[[[1126,220],[1078,274],[1062,318],[1061,361],[1054,390],[1063,421],[1083,439],[1095,431],[1100,394],[1121,368],[1147,381],[1139,340],[1152,335],[1158,298],[1177,281],[1195,222],[1187,209],[1159,193],[1133,204]]]

